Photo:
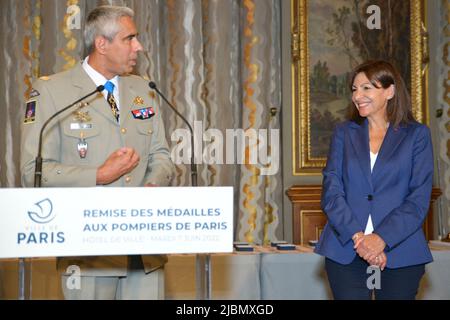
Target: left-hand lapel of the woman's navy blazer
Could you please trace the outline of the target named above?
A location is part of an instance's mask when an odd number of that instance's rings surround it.
[[[368,122],[367,120],[364,120],[361,125],[352,122],[350,128],[350,140],[353,144],[355,155],[358,159],[359,165],[361,166],[361,170],[364,173],[364,177],[372,188]]]

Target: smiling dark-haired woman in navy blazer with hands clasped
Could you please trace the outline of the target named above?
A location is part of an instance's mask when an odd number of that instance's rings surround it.
[[[334,131],[323,170],[324,255],[335,299],[414,299],[432,261],[422,230],[433,180],[430,131],[385,61],[351,74],[350,120]],[[374,290],[375,289],[375,290]]]

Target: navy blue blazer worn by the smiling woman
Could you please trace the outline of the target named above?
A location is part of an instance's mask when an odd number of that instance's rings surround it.
[[[321,205],[328,222],[315,252],[341,264],[353,261],[351,237],[369,214],[385,242],[388,268],[431,262],[422,230],[433,182],[430,130],[410,123],[390,126],[370,171],[369,127],[352,121],[334,131],[323,170]]]

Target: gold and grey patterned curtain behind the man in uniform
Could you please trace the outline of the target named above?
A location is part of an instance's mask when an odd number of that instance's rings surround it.
[[[205,155],[199,185],[234,186],[235,238],[282,237],[280,0],[0,1],[8,30],[0,37],[0,186],[20,186],[20,123],[31,82],[84,57],[85,15],[99,4],[134,9],[146,49],[137,73],[195,123],[196,151]],[[185,125],[170,109],[162,112],[176,156],[175,133]],[[239,133],[248,141],[243,150],[233,136]],[[189,184],[189,165],[177,164],[174,185]]]

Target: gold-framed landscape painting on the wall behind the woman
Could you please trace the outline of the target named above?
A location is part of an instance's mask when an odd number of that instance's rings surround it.
[[[428,122],[423,0],[291,0],[293,174],[321,174],[336,123],[350,102],[349,72],[392,62]]]

